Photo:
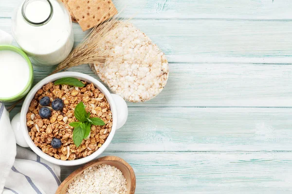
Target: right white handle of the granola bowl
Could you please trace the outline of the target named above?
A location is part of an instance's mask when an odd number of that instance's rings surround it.
[[[119,95],[116,94],[111,94],[111,97],[113,98],[113,101],[116,105],[117,109],[117,129],[120,129],[125,125],[127,118],[128,118],[128,106],[126,101],[120,97]]]

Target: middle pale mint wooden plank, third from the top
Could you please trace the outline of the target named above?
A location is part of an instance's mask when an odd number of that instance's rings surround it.
[[[128,106],[292,107],[292,65],[170,64],[166,87],[156,98]],[[34,66],[34,84],[55,67]],[[73,67],[100,81],[88,65]],[[11,103],[10,103],[11,104]]]

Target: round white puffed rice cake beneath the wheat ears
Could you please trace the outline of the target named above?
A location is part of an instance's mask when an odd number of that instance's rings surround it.
[[[157,96],[168,78],[164,53],[145,33],[131,23],[119,22],[108,33],[102,50],[108,50],[105,64],[90,64],[110,90],[130,102],[144,102]]]

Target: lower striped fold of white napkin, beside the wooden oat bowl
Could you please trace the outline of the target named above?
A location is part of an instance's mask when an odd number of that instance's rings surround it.
[[[2,194],[55,194],[60,166],[43,161],[34,152],[17,146],[17,156]]]

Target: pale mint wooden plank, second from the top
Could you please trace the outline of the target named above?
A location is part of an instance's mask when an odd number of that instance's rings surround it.
[[[292,63],[292,21],[132,20],[170,63]],[[10,32],[11,19],[1,19]],[[74,24],[75,46],[87,32]]]

